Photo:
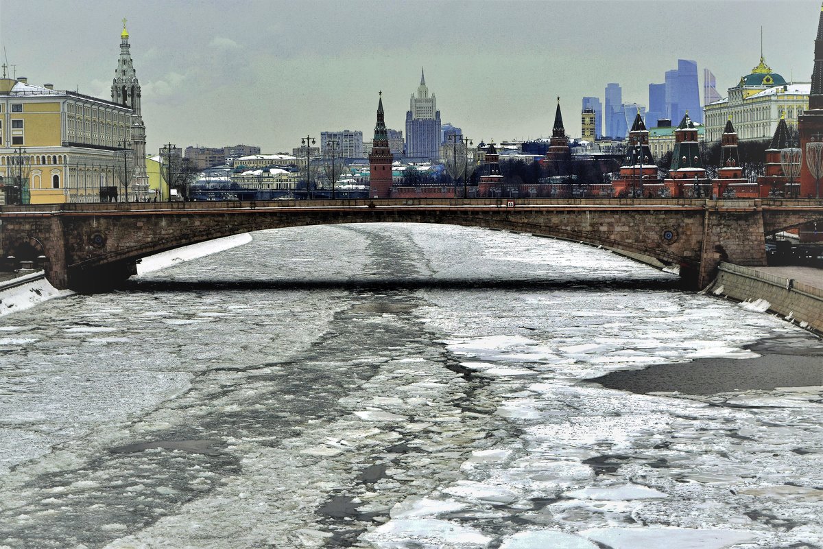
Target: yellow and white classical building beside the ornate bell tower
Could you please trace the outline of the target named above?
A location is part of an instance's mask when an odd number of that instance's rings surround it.
[[[32,204],[123,199],[131,119],[132,109],[111,101],[0,79],[4,195]]]

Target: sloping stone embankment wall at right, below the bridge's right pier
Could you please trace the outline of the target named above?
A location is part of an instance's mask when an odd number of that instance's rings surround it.
[[[787,320],[823,334],[823,288],[756,268],[720,263],[718,276],[706,290],[738,301],[762,300]],[[766,304],[761,304],[766,307]]]

